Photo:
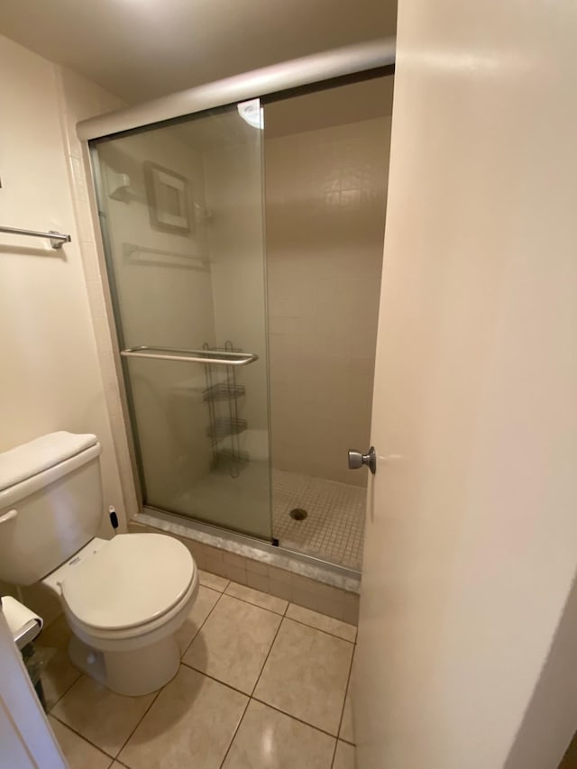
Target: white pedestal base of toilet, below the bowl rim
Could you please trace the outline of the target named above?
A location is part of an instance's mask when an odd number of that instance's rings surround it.
[[[174,636],[126,652],[104,652],[74,634],[70,660],[83,673],[117,694],[138,697],[158,691],[179,671],[180,651]]]

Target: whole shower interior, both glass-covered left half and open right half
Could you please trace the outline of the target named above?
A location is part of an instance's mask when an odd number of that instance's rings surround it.
[[[143,508],[354,571],[385,74],[89,137]]]

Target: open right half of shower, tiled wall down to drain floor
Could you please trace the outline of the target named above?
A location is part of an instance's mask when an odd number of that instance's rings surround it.
[[[264,107],[273,530],[360,570],[392,78]]]

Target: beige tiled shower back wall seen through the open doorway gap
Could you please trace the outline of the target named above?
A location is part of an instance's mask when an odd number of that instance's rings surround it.
[[[310,96],[306,97],[310,100]],[[267,106],[265,117],[275,122]],[[277,126],[277,128],[279,128]],[[390,118],[265,142],[273,466],[364,485]]]

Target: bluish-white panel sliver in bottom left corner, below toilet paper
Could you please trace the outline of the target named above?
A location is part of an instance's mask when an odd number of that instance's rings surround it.
[[[67,765],[0,608],[0,769]]]

